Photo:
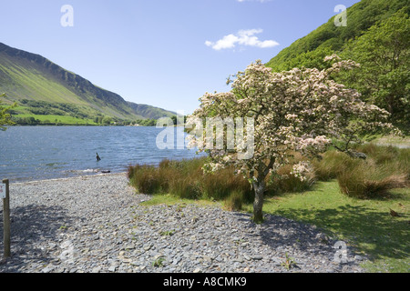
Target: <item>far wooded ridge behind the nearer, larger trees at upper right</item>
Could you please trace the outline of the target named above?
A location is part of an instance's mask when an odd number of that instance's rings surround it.
[[[296,40],[284,48],[266,65],[276,72],[297,66],[318,67],[325,55],[339,53],[344,45],[364,33],[373,25],[388,19],[404,9],[410,14],[408,0],[362,0],[347,8],[347,25],[334,25],[334,17],[309,35]]]

